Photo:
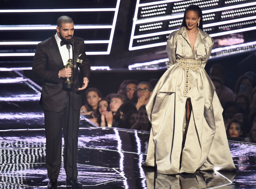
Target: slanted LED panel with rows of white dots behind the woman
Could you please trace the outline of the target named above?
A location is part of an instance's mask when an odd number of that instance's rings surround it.
[[[129,50],[166,45],[169,34],[180,28],[185,8],[190,4],[202,9],[204,31],[215,41],[211,58],[239,53],[241,48],[255,49],[256,1],[137,0]]]

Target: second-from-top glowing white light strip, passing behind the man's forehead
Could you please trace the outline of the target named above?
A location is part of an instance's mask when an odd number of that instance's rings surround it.
[[[111,29],[113,26],[109,25],[92,25],[92,26],[74,26],[74,29]],[[56,26],[8,26],[2,25],[0,31],[2,30],[56,30]]]

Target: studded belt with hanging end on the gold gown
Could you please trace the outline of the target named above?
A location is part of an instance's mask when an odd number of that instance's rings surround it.
[[[190,71],[190,69],[196,70],[198,68],[202,68],[202,63],[200,60],[177,59],[175,64],[185,70],[184,96],[187,96],[189,93],[189,90],[191,89],[189,71]]]

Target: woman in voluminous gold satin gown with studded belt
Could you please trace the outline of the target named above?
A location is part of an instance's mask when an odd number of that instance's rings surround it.
[[[202,29],[201,9],[188,6],[167,41],[168,69],[146,105],[152,129],[142,164],[158,173],[235,169],[223,109],[204,69],[214,41]]]

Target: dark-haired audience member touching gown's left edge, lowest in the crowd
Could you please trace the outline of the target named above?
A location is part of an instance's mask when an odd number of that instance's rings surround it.
[[[147,116],[146,105],[142,105],[137,112],[138,121],[131,127],[131,129],[150,131],[151,123]]]

